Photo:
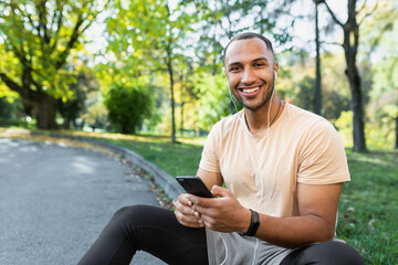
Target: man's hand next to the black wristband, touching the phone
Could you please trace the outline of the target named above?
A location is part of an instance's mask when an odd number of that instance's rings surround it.
[[[211,192],[219,198],[207,199],[186,194],[186,200],[192,203],[190,213],[197,212],[200,218],[199,222],[203,222],[211,230],[247,232],[250,225],[250,210],[241,205],[228,189],[213,186]]]

